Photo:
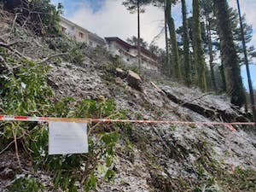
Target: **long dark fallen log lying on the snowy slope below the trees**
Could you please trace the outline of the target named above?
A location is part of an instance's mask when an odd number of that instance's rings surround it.
[[[166,89],[162,89],[166,93],[166,96],[172,101],[177,103],[178,105],[181,105],[183,108],[189,108],[190,110],[194,111],[195,113],[199,113],[202,116],[208,118],[208,119],[220,119],[224,120],[224,122],[234,122],[234,121],[240,121],[240,122],[247,122],[249,119],[247,119],[243,113],[238,111],[230,111],[230,110],[224,110],[220,108],[215,108],[211,105],[207,106],[203,102],[197,102],[195,103],[195,100],[191,100],[189,102],[184,101],[183,99],[179,98],[178,96],[175,96],[172,94],[171,91],[168,91]]]

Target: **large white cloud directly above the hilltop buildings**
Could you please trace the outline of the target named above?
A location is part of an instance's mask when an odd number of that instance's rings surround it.
[[[148,44],[164,26],[163,17],[163,11],[154,6],[146,7],[146,12],[141,14],[141,38]],[[130,14],[118,0],[106,1],[96,13],[93,13],[88,3],[83,3],[67,19],[101,37],[119,37],[125,40],[137,36],[137,14]],[[157,44],[164,47],[164,34]]]

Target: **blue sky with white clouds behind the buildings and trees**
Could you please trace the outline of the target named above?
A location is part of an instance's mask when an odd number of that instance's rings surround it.
[[[121,4],[122,0],[52,0],[52,3],[64,5],[64,16],[67,19],[83,26],[91,32],[96,32],[102,37],[118,36],[129,38],[137,35],[137,15],[130,14]],[[236,9],[236,0],[229,0],[230,6]],[[187,0],[188,12],[191,13],[192,0]],[[256,47],[256,0],[241,0],[241,12],[246,14],[247,22],[253,25],[253,41]],[[148,43],[153,39],[157,45],[164,48],[164,35],[156,37],[164,26],[162,10],[153,6],[147,7],[141,16],[142,38]],[[181,6],[177,4],[172,9],[176,26],[182,23]],[[256,61],[251,65],[253,87],[256,89]],[[241,76],[247,87],[247,73],[241,67]]]

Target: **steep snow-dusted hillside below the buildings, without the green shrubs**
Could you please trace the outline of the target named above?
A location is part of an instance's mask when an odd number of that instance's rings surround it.
[[[126,119],[198,122],[250,119],[232,106],[225,95],[205,94],[172,79],[152,79],[143,72],[137,75],[131,71],[132,67],[123,65],[105,49],[91,49],[64,37],[39,38],[18,25],[13,26],[13,20],[14,15],[1,13],[2,79],[7,74],[18,79],[20,68],[29,68],[31,65],[27,63],[31,61],[49,67],[46,82],[55,92],[50,102],[71,97],[70,101],[76,102],[112,100],[115,110],[125,112]],[[51,55],[55,56],[49,58]],[[0,124],[0,134],[5,134],[7,126]],[[98,129],[109,132],[111,126],[102,124]],[[248,125],[234,128],[236,132],[224,125],[119,125],[112,164],[115,175],[107,182],[98,169],[96,189],[92,191],[256,191],[255,131]],[[97,131],[89,137],[94,138]],[[20,186],[26,191],[65,190],[54,187],[54,174],[43,166],[33,171],[36,164],[33,152],[26,151],[23,148],[26,143],[21,141],[17,143],[19,162],[16,142],[12,141],[9,137],[7,142],[0,143],[0,191],[19,191]],[[24,176],[37,182],[15,183]],[[71,181],[67,179],[68,182]],[[75,181],[75,186],[79,191],[86,190],[79,181]]]

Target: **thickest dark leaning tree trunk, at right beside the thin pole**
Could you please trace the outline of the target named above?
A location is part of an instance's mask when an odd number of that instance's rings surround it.
[[[236,46],[230,26],[229,5],[226,0],[213,0],[219,27],[220,53],[224,65],[227,92],[231,102],[241,107],[245,103]]]

